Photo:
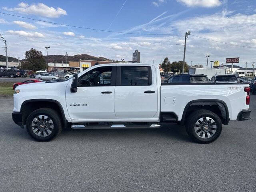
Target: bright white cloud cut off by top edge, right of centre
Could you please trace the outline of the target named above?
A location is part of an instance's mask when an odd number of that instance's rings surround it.
[[[177,0],[188,7],[217,7],[222,4],[220,0]]]

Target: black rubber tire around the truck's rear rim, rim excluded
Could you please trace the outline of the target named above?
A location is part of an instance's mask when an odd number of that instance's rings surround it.
[[[196,134],[195,124],[196,122],[203,117],[209,117],[216,123],[216,132],[210,138],[201,138]],[[220,117],[210,110],[197,110],[190,114],[186,119],[186,132],[187,134],[198,143],[211,143],[215,141],[221,134],[222,131],[222,122]]]

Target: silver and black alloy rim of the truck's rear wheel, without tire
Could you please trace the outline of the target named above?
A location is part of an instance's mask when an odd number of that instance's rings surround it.
[[[210,117],[202,117],[196,121],[195,132],[200,138],[210,138],[215,134],[216,130],[216,122]]]

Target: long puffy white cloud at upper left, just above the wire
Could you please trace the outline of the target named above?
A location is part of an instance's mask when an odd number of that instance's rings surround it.
[[[48,7],[43,3],[31,4],[29,6],[28,4],[21,2],[20,4],[18,4],[18,7],[14,7],[14,8],[3,7],[3,9],[7,11],[19,12],[22,14],[34,14],[34,15],[44,16],[49,18],[58,18],[61,15],[67,14],[66,10],[63,10],[62,8]]]

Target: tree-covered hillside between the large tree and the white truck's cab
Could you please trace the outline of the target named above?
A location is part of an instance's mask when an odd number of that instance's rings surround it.
[[[78,60],[94,60],[94,61],[110,61],[107,58],[104,57],[94,57],[88,54],[80,54],[80,55],[74,55],[74,56],[67,56],[67,62],[68,61],[78,61]],[[44,55],[44,60],[46,60],[46,55]],[[48,55],[48,63],[65,63],[66,62],[66,56],[65,55]]]

